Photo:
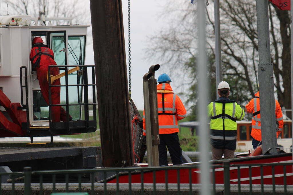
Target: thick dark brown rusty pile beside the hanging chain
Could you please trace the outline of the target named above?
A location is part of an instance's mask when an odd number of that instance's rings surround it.
[[[121,0],[90,0],[103,166],[132,166]]]

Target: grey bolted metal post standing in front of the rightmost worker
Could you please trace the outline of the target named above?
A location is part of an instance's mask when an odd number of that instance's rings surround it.
[[[263,154],[272,148],[277,152],[274,73],[270,59],[270,32],[268,19],[268,1],[256,1],[256,15],[258,27],[258,81],[260,88],[260,116]]]

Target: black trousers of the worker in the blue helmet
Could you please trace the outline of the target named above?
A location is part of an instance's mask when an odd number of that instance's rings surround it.
[[[159,162],[160,166],[168,166],[167,148],[169,150],[173,165],[182,164],[181,147],[178,133],[160,134]]]

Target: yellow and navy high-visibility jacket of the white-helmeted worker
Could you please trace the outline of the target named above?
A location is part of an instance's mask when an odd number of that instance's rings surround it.
[[[228,97],[219,97],[208,106],[208,116],[211,117],[211,144],[218,149],[236,149],[237,124],[244,117],[244,110]],[[224,110],[224,112],[223,112]]]

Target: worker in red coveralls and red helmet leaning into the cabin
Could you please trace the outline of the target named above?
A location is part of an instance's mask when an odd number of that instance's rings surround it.
[[[48,67],[50,74],[55,76],[59,74],[59,68],[54,61],[54,53],[43,44],[44,41],[41,37],[35,37],[32,41],[32,49],[30,51],[30,61],[33,65],[33,70],[37,71],[37,78],[39,80],[42,96],[49,105],[49,84],[47,81]],[[53,81],[52,85],[60,85],[60,79]],[[60,104],[60,87],[51,87],[51,104]],[[52,106],[52,121],[66,121],[66,111],[61,106]],[[69,115],[69,120],[72,117]]]

